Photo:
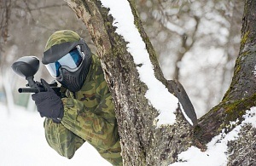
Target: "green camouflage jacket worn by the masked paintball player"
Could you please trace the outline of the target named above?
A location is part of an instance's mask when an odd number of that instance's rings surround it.
[[[119,134],[113,100],[104,79],[100,61],[92,56],[90,72],[79,92],[66,92],[62,98],[61,123],[45,118],[46,140],[61,156],[72,158],[85,141],[113,165],[122,165]]]

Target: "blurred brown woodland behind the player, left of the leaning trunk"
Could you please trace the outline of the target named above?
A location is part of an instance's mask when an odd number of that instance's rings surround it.
[[[40,59],[44,44],[54,31],[77,31],[88,41],[90,48],[94,49],[84,24],[76,18],[65,2],[2,0],[0,14],[0,89],[7,99],[5,102],[9,110],[12,110],[10,107],[14,102],[26,106],[29,101],[28,94],[15,95],[18,93],[18,86],[25,86],[26,80],[12,72],[11,64],[21,56],[34,55]],[[49,73],[41,66],[35,77],[39,79],[42,76],[49,79]]]

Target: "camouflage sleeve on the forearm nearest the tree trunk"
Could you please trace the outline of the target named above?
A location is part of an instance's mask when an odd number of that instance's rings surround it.
[[[106,95],[96,110],[90,112],[82,101],[62,98],[64,117],[61,123],[97,149],[107,150],[119,140],[116,119],[108,118],[111,99],[110,94]],[[101,115],[96,114],[97,110],[101,110]]]

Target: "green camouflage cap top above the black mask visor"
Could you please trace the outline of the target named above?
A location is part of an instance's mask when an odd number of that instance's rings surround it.
[[[55,31],[48,39],[44,51],[55,44],[79,41],[79,34],[70,30]]]

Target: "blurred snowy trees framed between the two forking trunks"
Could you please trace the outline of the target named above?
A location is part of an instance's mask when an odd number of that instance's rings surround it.
[[[136,3],[164,75],[183,83],[201,117],[221,100],[230,84],[239,51],[244,2],[139,0]],[[215,54],[210,55],[207,52],[210,49]],[[218,59],[218,64],[207,60],[212,56]],[[193,68],[190,72],[183,70],[188,63]]]

